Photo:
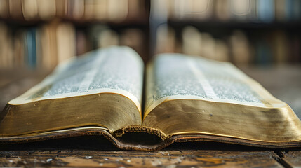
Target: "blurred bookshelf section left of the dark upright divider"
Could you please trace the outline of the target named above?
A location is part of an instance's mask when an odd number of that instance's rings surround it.
[[[0,69],[51,71],[108,45],[131,46],[146,61],[149,6],[148,0],[0,0]]]

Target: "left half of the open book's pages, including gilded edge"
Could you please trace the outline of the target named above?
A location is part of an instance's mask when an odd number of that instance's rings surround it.
[[[74,127],[110,132],[141,125],[144,65],[131,48],[110,47],[73,57],[2,112],[0,135]]]

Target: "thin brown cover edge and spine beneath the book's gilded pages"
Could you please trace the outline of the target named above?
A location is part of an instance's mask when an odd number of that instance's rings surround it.
[[[131,132],[131,131],[125,131]],[[123,134],[125,133],[123,130]],[[138,132],[138,131],[133,131]],[[155,133],[156,134],[156,133]],[[119,134],[120,135],[120,134]],[[158,135],[158,134],[156,134]],[[34,141],[45,141],[50,139],[62,139],[71,137],[81,137],[81,136],[103,136],[114,144],[117,148],[123,150],[133,150],[133,151],[158,151],[170,144],[175,142],[189,142],[189,141],[212,141],[226,144],[239,144],[244,146],[254,146],[262,148],[295,148],[301,147],[301,141],[293,142],[261,142],[261,141],[251,141],[246,139],[235,139],[231,137],[218,137],[213,135],[205,134],[189,134],[189,135],[173,135],[160,141],[157,144],[137,144],[137,142],[131,141],[121,141],[117,139],[107,130],[102,129],[83,129],[83,130],[72,130],[69,132],[53,132],[49,134],[36,134],[27,137],[4,137],[0,138],[0,144],[18,144]]]

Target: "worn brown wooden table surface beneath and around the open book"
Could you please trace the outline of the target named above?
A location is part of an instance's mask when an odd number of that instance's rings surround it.
[[[239,66],[301,118],[301,66]],[[46,76],[0,71],[0,109]],[[301,167],[301,148],[267,149],[213,142],[176,143],[161,151],[121,151],[103,137],[0,146],[0,167]]]

